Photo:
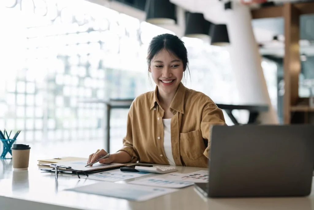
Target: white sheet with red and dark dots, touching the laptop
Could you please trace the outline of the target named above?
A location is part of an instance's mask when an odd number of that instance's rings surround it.
[[[165,180],[187,181],[193,183],[207,183],[208,171],[200,170],[189,174],[171,173],[162,177]]]

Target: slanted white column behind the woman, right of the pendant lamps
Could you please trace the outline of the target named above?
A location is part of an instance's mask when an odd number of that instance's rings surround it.
[[[224,12],[228,27],[230,62],[234,71],[241,104],[265,104],[268,112],[261,113],[262,124],[278,124],[271,104],[261,65],[261,55],[253,34],[249,8],[232,1],[232,9]]]

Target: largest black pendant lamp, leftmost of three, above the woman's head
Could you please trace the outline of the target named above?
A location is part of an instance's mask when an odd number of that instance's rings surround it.
[[[176,5],[169,0],[146,0],[146,22],[159,24],[176,24]]]

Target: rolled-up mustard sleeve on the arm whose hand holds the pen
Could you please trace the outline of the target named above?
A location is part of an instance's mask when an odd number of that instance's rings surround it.
[[[127,135],[123,138],[123,147],[118,150],[127,152],[131,157],[131,163],[135,163],[138,161],[138,154],[133,148],[133,128],[132,128],[132,109],[131,105],[129,113],[127,115]]]

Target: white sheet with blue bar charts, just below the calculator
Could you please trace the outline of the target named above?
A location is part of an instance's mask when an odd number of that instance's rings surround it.
[[[128,183],[138,184],[138,185],[168,187],[168,188],[183,188],[183,187],[194,185],[194,183],[192,182],[165,180],[158,177],[149,177],[149,178],[144,178],[140,180],[130,181]]]

